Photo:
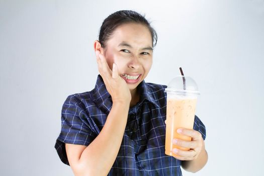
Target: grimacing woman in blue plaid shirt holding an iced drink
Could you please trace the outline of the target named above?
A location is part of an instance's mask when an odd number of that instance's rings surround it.
[[[140,14],[118,11],[104,20],[94,48],[100,75],[95,89],[69,96],[55,148],[75,175],[182,175],[207,162],[205,126],[195,117],[189,151],[165,155],[165,85],[146,83],[157,41]]]

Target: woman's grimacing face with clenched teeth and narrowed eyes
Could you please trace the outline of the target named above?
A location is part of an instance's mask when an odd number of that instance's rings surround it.
[[[135,90],[152,65],[151,33],[141,24],[123,24],[106,42],[104,54],[110,69],[116,63],[119,75],[126,80],[130,91]]]

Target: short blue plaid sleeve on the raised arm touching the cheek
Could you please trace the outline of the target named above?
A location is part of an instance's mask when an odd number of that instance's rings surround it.
[[[62,106],[61,131],[54,146],[64,164],[69,165],[65,143],[88,146],[97,136],[91,129],[87,116],[74,95],[68,96]]]

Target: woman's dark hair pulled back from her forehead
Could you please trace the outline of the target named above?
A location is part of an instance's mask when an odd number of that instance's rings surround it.
[[[152,36],[152,47],[156,45],[157,33],[150,26],[150,22],[145,19],[145,16],[142,16],[141,14],[134,11],[117,11],[108,16],[101,26],[99,42],[103,48],[106,46],[106,41],[111,37],[114,30],[125,23],[140,23],[145,25],[149,29]]]

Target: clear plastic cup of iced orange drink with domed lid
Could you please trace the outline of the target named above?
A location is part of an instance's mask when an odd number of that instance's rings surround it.
[[[194,79],[189,76],[173,78],[165,92],[167,93],[165,154],[177,156],[172,152],[173,148],[181,150],[190,150],[190,148],[174,145],[172,139],[192,140],[190,136],[177,133],[177,129],[193,129],[197,97],[200,92]]]

